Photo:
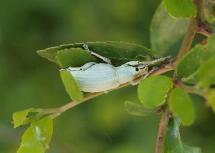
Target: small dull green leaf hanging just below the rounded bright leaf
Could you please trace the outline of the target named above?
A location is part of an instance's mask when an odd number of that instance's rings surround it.
[[[135,115],[135,116],[146,116],[156,112],[156,110],[154,109],[146,109],[143,107],[143,105],[130,102],[130,101],[125,102],[125,109],[129,114]]]

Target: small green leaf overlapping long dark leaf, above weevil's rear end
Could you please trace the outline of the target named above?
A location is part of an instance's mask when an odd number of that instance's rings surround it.
[[[80,60],[80,57],[81,60]],[[98,60],[90,53],[81,48],[69,48],[60,50],[56,55],[57,63],[61,68],[67,68],[72,65],[82,66],[87,62],[97,62]]]

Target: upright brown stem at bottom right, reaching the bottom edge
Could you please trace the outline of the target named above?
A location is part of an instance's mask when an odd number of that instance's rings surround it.
[[[166,107],[164,109],[164,112],[162,112],[162,116],[160,119],[155,153],[164,152],[164,142],[165,142],[165,136],[166,136],[168,123],[169,123],[169,111],[168,111],[168,108]]]

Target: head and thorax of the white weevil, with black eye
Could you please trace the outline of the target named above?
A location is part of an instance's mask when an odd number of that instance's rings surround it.
[[[136,77],[147,73],[147,69],[144,65],[131,66],[123,64],[116,68],[118,75],[118,81],[120,84],[131,82]]]

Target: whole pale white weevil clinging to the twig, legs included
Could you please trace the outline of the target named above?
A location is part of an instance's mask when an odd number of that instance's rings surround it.
[[[164,57],[144,62],[130,61],[115,67],[108,58],[90,51],[86,44],[83,45],[83,48],[91,55],[102,59],[105,63],[89,62],[82,67],[68,67],[66,70],[73,76],[81,91],[91,93],[115,89],[128,82],[132,84],[133,80],[138,76],[147,77],[155,70],[155,67],[149,70],[149,66],[169,58]]]

